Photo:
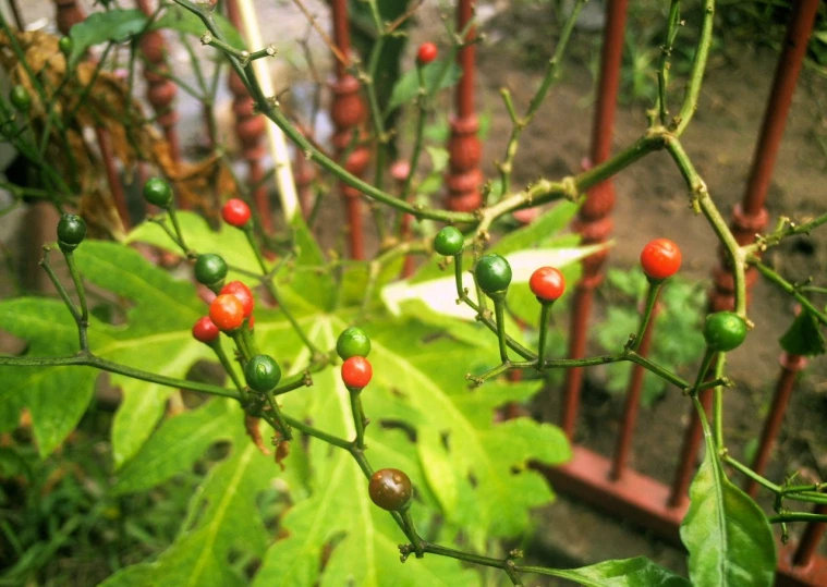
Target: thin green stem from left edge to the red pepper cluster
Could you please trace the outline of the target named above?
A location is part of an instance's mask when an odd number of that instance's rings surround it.
[[[141,379],[142,381],[148,381],[149,383],[158,383],[159,386],[167,386],[170,388],[186,389],[190,391],[198,391],[202,393],[209,393],[210,395],[220,395],[222,398],[232,398],[233,400],[241,400],[241,395],[238,391],[220,388],[218,386],[211,386],[209,383],[198,383],[196,381],[187,381],[186,379],[175,379],[173,377],[166,377],[163,375],[156,375],[154,372],[135,369],[113,363],[105,358],[100,358],[92,353],[78,353],[72,356],[59,356],[59,357],[2,357],[0,356],[0,366],[13,366],[13,367],[65,367],[70,365],[78,365],[85,367],[95,367],[102,371],[115,372],[119,375],[125,375],[133,379]]]

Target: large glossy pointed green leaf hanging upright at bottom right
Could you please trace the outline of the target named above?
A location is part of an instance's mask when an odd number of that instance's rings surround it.
[[[690,578],[694,585],[720,587],[773,585],[776,549],[767,516],[727,478],[708,425],[704,428],[706,454],[681,524]]]

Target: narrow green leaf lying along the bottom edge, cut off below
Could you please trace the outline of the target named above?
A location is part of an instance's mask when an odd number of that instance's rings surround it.
[[[658,566],[645,557],[604,561],[549,574],[588,587],[690,587],[691,585],[685,578]]]

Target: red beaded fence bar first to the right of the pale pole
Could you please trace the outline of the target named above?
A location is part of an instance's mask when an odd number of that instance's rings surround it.
[[[333,13],[333,42],[339,51],[350,59],[351,44],[348,22],[346,0],[332,0]],[[364,123],[367,110],[360,94],[360,83],[348,73],[349,63],[336,60],[337,78],[332,83],[333,103],[331,115],[333,120],[333,146],[341,158],[350,151],[344,161],[344,169],[354,175],[362,175],[370,160],[370,151],[360,144],[362,137],[361,126]],[[354,136],[355,133],[355,136]],[[353,146],[355,145],[355,147]],[[353,147],[353,148],[351,148]],[[344,183],[339,184],[339,189],[344,201],[350,229],[350,253],[354,259],[365,257],[364,235],[362,229],[362,193]]]

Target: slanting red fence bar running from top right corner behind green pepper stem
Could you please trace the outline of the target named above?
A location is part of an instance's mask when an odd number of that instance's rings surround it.
[[[773,81],[773,90],[767,101],[764,123],[761,136],[753,156],[752,171],[747,181],[746,191],[740,205],[732,211],[730,229],[739,244],[752,243],[755,234],[762,232],[769,221],[764,203],[766,201],[769,181],[773,178],[778,149],[783,136],[787,115],[792,105],[792,95],[795,91],[795,83],[804,62],[810,34],[815,24],[815,14],[818,10],[818,0],[800,0],[793,4],[790,24],[787,27],[783,49],[778,59],[776,75]],[[728,310],[734,306],[734,283],[732,272],[727,267],[723,255],[720,255],[721,264],[715,270],[715,289],[709,294],[709,307],[712,311]],[[757,273],[754,270],[746,272],[746,288],[755,283]],[[749,301],[749,293],[747,293]],[[702,392],[702,403],[708,408],[712,390]],[[684,437],[684,445],[681,453],[681,462],[672,484],[672,492],[669,497],[670,505],[678,505],[686,499],[692,472],[695,468],[697,449],[701,444],[701,423],[695,411],[692,411],[690,426]]]

